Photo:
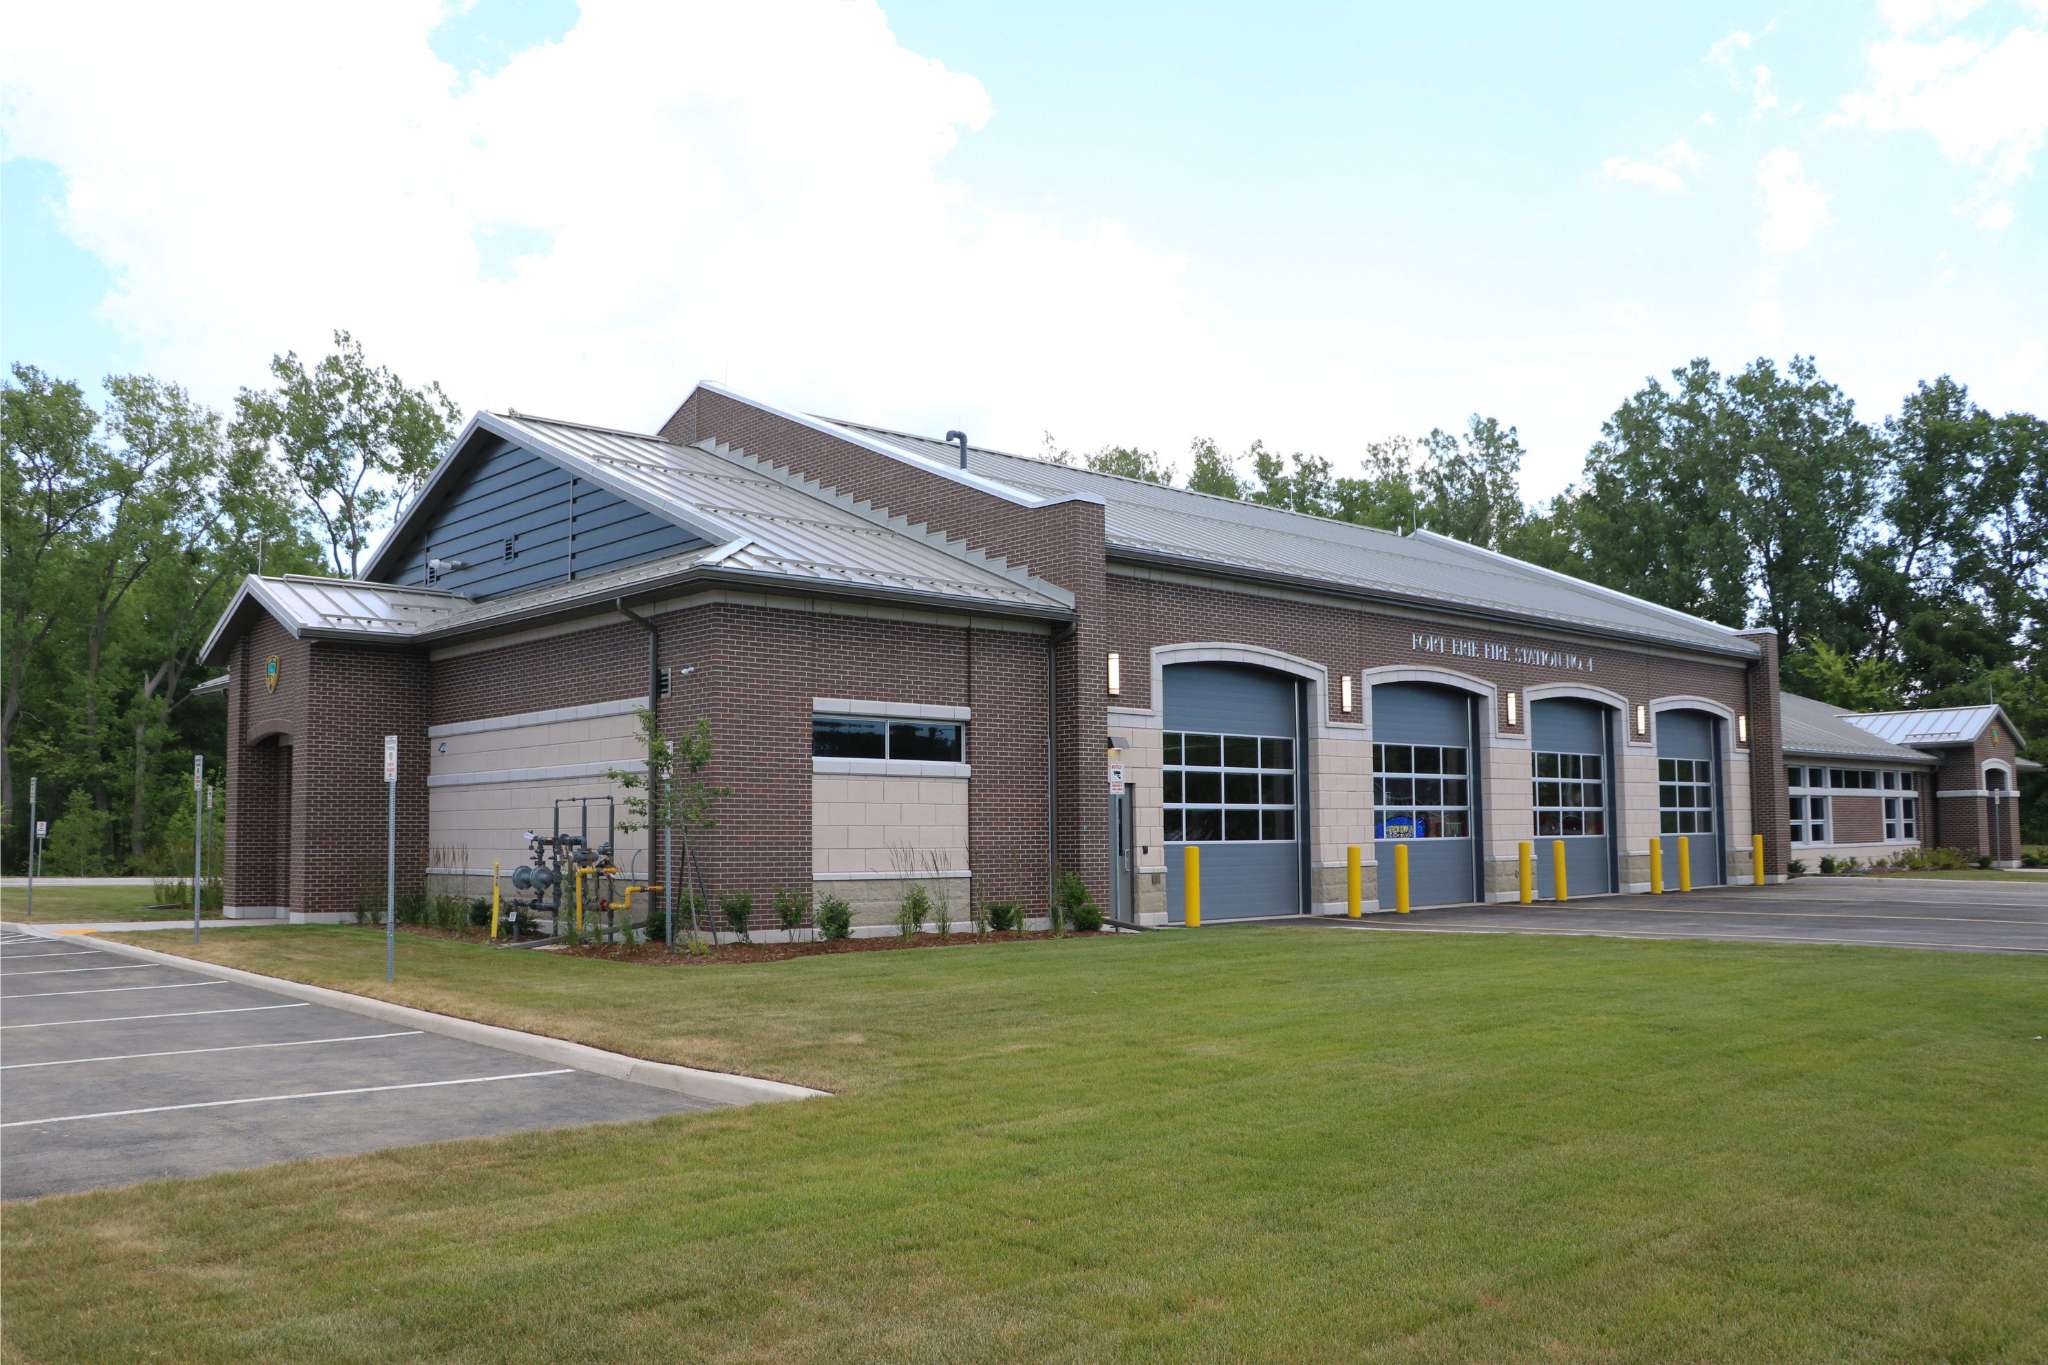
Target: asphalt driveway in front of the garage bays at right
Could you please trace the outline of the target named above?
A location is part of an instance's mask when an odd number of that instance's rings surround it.
[[[1561,933],[2048,954],[2048,878],[1800,878],[1780,886],[1714,886],[1663,896],[1589,896],[1532,907],[1466,905],[1282,923],[1358,933]]]

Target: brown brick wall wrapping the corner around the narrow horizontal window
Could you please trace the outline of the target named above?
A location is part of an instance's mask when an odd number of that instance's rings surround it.
[[[674,688],[662,729],[711,722],[705,782],[731,788],[696,849],[713,896],[754,894],[772,923],[780,888],[811,886],[811,700],[819,696],[971,706],[969,866],[975,896],[1042,911],[1047,636],[752,602],[653,616]],[[477,720],[645,692],[647,634],[600,624],[532,645],[434,663],[432,722]],[[680,669],[694,669],[682,675]],[[1100,739],[1098,739],[1100,747]],[[659,857],[659,843],[651,851]],[[682,847],[678,843],[680,860]]]

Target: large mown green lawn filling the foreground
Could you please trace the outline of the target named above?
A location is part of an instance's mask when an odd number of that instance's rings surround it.
[[[838,1095],[10,1205],[10,1359],[2048,1357],[2028,958],[207,954]]]

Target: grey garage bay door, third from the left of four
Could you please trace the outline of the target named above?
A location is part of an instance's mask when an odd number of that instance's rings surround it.
[[[1536,894],[1556,894],[1552,841],[1565,841],[1571,894],[1614,890],[1614,743],[1595,702],[1556,698],[1530,704],[1536,767]]]

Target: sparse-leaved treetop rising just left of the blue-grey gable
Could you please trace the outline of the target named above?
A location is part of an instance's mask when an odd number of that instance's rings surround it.
[[[334,573],[352,579],[385,512],[426,481],[461,413],[440,385],[412,389],[373,368],[346,332],[313,368],[295,352],[274,356],[270,377],[274,389],[236,399],[233,440],[270,452],[317,524]]]

